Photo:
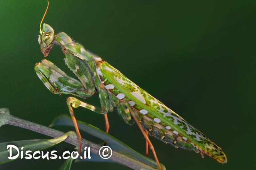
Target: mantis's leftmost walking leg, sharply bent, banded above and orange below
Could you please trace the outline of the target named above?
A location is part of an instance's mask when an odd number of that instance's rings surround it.
[[[77,140],[78,140],[78,152],[79,152],[79,155],[81,155],[81,139],[82,139],[82,137],[81,137],[81,134],[80,134],[77,122],[76,122],[76,117],[75,117],[73,108],[77,108],[77,107],[81,106],[81,107],[87,108],[89,110],[92,110],[95,113],[105,114],[105,115],[106,115],[107,111],[100,107],[95,107],[95,106],[92,106],[85,102],[82,102],[81,100],[78,100],[74,97],[68,97],[67,104],[68,104],[69,113],[71,115],[72,121],[73,121],[75,129],[76,129]]]

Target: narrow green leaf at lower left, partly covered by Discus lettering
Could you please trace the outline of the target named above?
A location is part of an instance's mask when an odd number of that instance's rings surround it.
[[[76,133],[74,131],[69,131],[65,133],[64,135],[60,137],[56,137],[53,139],[42,139],[42,140],[22,140],[22,141],[13,141],[13,142],[5,142],[0,144],[0,165],[4,164],[6,162],[10,162],[15,159],[21,158],[21,151],[23,151],[23,158],[26,159],[28,158],[28,155],[25,155],[26,151],[31,151],[29,152],[30,155],[32,155],[33,152],[40,151],[46,148],[49,148],[51,146],[54,146],[62,141],[64,141],[67,137],[69,136],[74,136],[76,137]],[[8,147],[7,145],[11,146],[14,145],[17,147]],[[22,148],[24,147],[24,148]],[[22,148],[22,150],[21,150]],[[18,149],[18,150],[17,150]],[[10,155],[9,151],[12,152],[12,155]],[[15,156],[19,153],[17,158]],[[8,157],[11,156],[9,159]],[[38,155],[37,155],[38,156]]]

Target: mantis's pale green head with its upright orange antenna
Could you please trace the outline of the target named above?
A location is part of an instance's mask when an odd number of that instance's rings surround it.
[[[43,29],[41,28],[42,22],[44,20],[44,17],[45,17],[45,14],[47,12],[48,7],[49,7],[49,1],[48,1],[47,8],[44,12],[44,16],[43,16],[43,18],[41,20],[41,23],[40,23],[39,33],[41,35],[39,35],[39,37],[38,37],[38,42],[40,44],[41,51],[42,51],[42,53],[44,54],[45,57],[49,54],[49,52],[52,48],[53,39],[54,39],[54,30],[52,29],[51,26],[49,26],[48,24],[43,24]]]

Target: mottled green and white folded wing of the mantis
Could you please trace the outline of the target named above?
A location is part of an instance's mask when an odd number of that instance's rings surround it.
[[[97,68],[97,74],[103,85],[118,99],[128,98],[130,105],[137,106],[141,114],[192,144],[200,152],[206,153],[220,163],[227,163],[227,157],[219,146],[188,124],[180,115],[126,78],[119,70],[107,62],[102,62]]]

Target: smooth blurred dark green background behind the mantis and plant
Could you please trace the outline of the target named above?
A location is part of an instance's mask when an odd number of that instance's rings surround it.
[[[44,56],[37,42],[46,0],[1,1],[0,107],[12,115],[49,125],[68,113],[68,95],[54,95],[37,78]],[[218,144],[228,163],[175,149],[154,138],[167,169],[255,168],[255,1],[67,1],[51,0],[44,23],[98,54]],[[54,46],[48,60],[69,75]],[[86,99],[100,106],[98,95]],[[78,120],[104,129],[104,116],[75,110]],[[140,153],[137,125],[108,114],[110,134]],[[254,123],[253,123],[254,122]],[[62,131],[74,130],[56,127]],[[83,137],[94,140],[87,136]],[[0,142],[44,139],[18,127],[0,128]],[[50,150],[73,146],[61,143]],[[151,152],[150,157],[153,158]],[[16,160],[0,169],[58,169],[64,160]],[[111,163],[74,163],[72,169],[129,169]]]

